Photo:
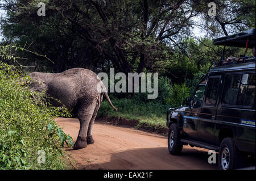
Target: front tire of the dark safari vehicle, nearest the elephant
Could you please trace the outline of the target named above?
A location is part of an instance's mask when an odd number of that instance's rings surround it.
[[[170,126],[168,133],[168,150],[172,155],[178,155],[181,153],[183,145],[179,144],[180,136],[177,130],[177,124],[173,123]]]

